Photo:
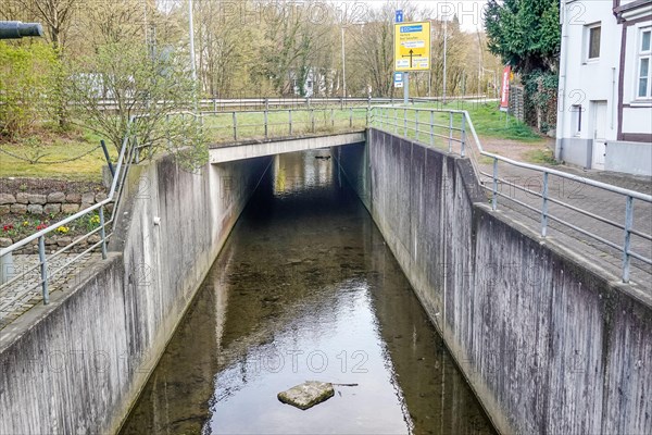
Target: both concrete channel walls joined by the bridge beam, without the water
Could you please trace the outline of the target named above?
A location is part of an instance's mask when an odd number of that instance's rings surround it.
[[[652,432],[652,294],[492,210],[468,159],[369,128],[134,166],[108,260],[2,330],[0,434],[115,432],[273,156],[324,147],[499,432]]]

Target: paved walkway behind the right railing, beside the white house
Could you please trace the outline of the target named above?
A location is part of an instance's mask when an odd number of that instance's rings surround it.
[[[487,174],[492,174],[493,172],[492,164],[486,160],[482,160],[479,166],[481,171]],[[581,179],[589,178],[647,195],[652,194],[652,178],[650,177],[599,171],[582,171],[569,166],[554,166],[553,169],[572,174],[576,178],[565,179],[560,176],[550,175],[549,197],[551,199],[566,202],[623,226],[625,223],[625,197],[598,187],[588,186],[582,184]],[[543,175],[541,173],[509,165],[506,163],[499,163],[498,171],[501,178],[504,178],[506,182],[516,186],[539,194],[542,190]],[[485,186],[489,188],[492,187],[490,177],[484,175],[482,181]],[[509,186],[506,183],[500,183],[498,190],[507,198],[499,197],[497,210],[518,220],[528,228],[540,233],[541,214],[535,213],[510,199],[515,198],[537,210],[541,209],[542,199],[536,195]],[[491,194],[487,194],[488,198],[490,198]],[[595,234],[617,246],[622,247],[624,245],[625,232],[623,228],[600,222],[597,219],[586,216],[579,212],[552,202],[549,202],[549,214]],[[634,229],[639,233],[652,235],[652,203],[636,199],[634,200]],[[615,278],[622,276],[622,250],[614,249],[602,241],[595,240],[594,238],[572,229],[554,220],[549,220],[547,238],[560,241],[570,251],[585,259],[594,260],[597,265],[604,269],[610,274],[615,275]],[[638,235],[631,235],[630,251],[648,259],[652,259],[652,241]],[[631,258],[630,282],[634,286],[643,289],[645,294],[652,295],[652,265]]]

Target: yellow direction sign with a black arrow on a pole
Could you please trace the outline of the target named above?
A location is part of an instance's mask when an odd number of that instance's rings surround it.
[[[430,69],[430,23],[394,24],[394,71]]]

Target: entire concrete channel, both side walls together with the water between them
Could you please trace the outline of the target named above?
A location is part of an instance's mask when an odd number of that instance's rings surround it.
[[[110,259],[2,330],[0,434],[652,433],[650,298],[354,135],[135,166]],[[276,400],[304,381],[358,386]]]

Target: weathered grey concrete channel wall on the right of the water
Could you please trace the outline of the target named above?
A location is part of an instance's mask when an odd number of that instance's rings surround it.
[[[468,161],[367,138],[335,156],[498,430],[652,433],[650,295],[492,212]]]

